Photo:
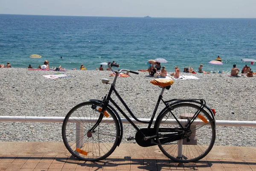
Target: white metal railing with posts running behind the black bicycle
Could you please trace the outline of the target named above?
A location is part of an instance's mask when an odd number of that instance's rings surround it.
[[[65,117],[47,117],[47,116],[0,116],[0,122],[63,122]],[[76,123],[76,147],[81,148],[83,145],[83,139],[80,137],[82,136],[83,133],[83,126],[81,123],[78,122],[80,120],[81,122],[88,122],[90,123],[95,123],[97,121],[97,118],[72,118],[69,119],[69,122],[74,122]],[[128,124],[127,119],[121,118],[122,123]],[[135,124],[142,124],[141,122],[137,122],[135,119],[131,119],[132,122]],[[140,119],[141,121],[150,121],[150,119]],[[179,119],[181,124],[182,122],[186,123],[186,119]],[[114,123],[112,118],[103,118],[102,122],[104,123]],[[155,122],[155,119],[154,119]],[[153,122],[153,123],[154,123]],[[202,122],[198,120],[198,122]],[[194,124],[197,124],[198,122],[195,122]],[[165,121],[166,124],[176,124],[174,119],[167,119]],[[217,126],[235,126],[235,127],[256,127],[256,121],[222,121],[222,120],[216,120],[216,125]],[[79,141],[79,139],[81,141]],[[178,141],[178,151],[180,151],[180,154],[182,152],[182,141]]]

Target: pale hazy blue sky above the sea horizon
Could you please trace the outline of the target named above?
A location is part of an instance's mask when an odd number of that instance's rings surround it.
[[[0,0],[0,14],[256,18],[256,0]]]

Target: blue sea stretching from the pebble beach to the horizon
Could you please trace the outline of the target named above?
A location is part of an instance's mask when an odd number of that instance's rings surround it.
[[[41,58],[29,58],[30,55]],[[223,65],[209,64],[220,56]],[[61,58],[62,57],[62,58]],[[177,66],[230,72],[233,64],[256,70],[256,18],[84,17],[0,14],[0,64],[67,70],[96,70],[115,61],[119,69],[146,70],[163,58],[167,71]],[[106,68],[106,67],[105,67]]]

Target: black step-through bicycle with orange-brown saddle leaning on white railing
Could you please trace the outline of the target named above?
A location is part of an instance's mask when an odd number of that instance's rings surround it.
[[[112,67],[119,65],[110,62],[108,67],[115,73],[112,84],[108,79],[102,79],[102,83],[111,84],[108,94],[102,100],[90,99],[76,105],[64,119],[62,138],[73,156],[84,161],[99,161],[108,157],[120,145],[123,136],[122,120],[110,102],[137,130],[135,138],[129,137],[127,140],[135,139],[142,147],[158,145],[166,157],[176,162],[195,162],[211,151],[215,142],[215,110],[210,109],[204,99],[164,101],[163,92],[170,89],[173,80],[154,79],[151,83],[161,87],[161,93],[150,121],[140,120],[134,116],[115,89],[120,73],[139,73],[125,69],[113,70]],[[148,124],[148,128],[139,129],[134,124],[111,98],[113,92],[132,118]],[[160,101],[165,107],[154,119]]]

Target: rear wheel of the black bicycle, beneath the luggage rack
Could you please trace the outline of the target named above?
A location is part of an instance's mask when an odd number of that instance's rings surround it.
[[[195,162],[205,157],[215,142],[215,125],[212,117],[203,109],[195,104],[180,103],[171,106],[172,113],[167,109],[155,124],[156,133],[160,133],[165,138],[157,138],[156,142],[166,157],[177,162]],[[198,111],[187,133],[178,124],[185,127],[189,119]],[[175,116],[175,117],[174,117]],[[191,120],[190,120],[191,122]],[[172,133],[172,135],[170,135]],[[168,134],[168,135],[167,135]]]

